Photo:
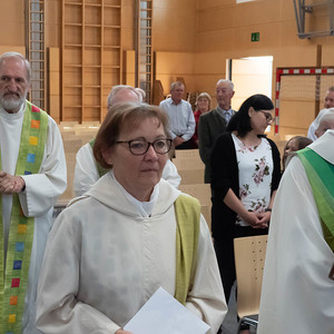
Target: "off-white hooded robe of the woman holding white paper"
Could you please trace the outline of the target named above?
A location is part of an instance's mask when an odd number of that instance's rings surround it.
[[[112,334],[163,286],[175,293],[180,191],[161,179],[151,215],[143,215],[110,173],[57,218],[38,292],[45,333]],[[216,334],[226,303],[210,233],[200,216],[197,259],[186,307]]]

